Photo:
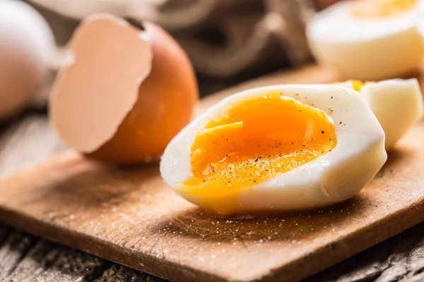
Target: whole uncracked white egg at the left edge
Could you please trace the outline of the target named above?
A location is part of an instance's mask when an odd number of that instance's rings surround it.
[[[54,52],[52,31],[22,1],[0,1],[0,121],[23,109],[45,80]]]

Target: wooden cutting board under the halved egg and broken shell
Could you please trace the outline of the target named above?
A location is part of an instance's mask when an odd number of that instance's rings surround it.
[[[249,87],[332,82],[317,66]],[[424,82],[420,78],[421,82]],[[0,180],[0,220],[172,281],[297,281],[424,221],[424,123],[372,182],[329,209],[216,218],[177,197],[158,166],[114,168],[66,152]]]

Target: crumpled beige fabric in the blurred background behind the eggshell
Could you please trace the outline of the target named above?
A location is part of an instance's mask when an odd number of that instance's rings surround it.
[[[59,43],[69,38],[78,20],[91,13],[158,23],[177,39],[196,71],[204,75],[229,77],[269,61],[298,65],[310,59],[304,34],[305,21],[314,13],[310,0],[28,1],[45,13]],[[54,27],[57,20],[64,27]]]

